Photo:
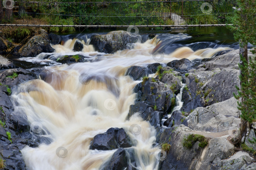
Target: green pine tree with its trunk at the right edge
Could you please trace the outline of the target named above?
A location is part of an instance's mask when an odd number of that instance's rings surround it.
[[[256,120],[256,67],[255,56],[248,58],[247,44],[256,43],[256,0],[237,0],[238,9],[232,20],[231,29],[235,31],[234,37],[239,41],[240,54],[240,87],[236,99],[239,99],[238,109],[240,110],[241,129],[240,135],[235,143],[241,141],[247,134],[251,122]],[[255,50],[252,50],[255,53]]]

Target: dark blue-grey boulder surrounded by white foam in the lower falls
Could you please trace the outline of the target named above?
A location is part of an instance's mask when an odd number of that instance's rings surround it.
[[[90,149],[113,150],[119,147],[131,147],[129,136],[123,128],[110,128],[106,133],[97,134],[92,140]]]

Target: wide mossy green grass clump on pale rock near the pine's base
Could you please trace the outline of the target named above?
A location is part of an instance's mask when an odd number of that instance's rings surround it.
[[[202,148],[204,148],[208,144],[208,141],[206,141],[203,135],[189,134],[188,136],[182,139],[182,146],[186,147],[187,149],[190,149],[192,148],[193,144],[197,141],[199,141],[198,146]]]

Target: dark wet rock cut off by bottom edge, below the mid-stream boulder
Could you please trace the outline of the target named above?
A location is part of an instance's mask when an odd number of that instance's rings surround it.
[[[127,163],[127,155],[126,151],[123,148],[119,148],[113,154],[112,158],[110,159],[108,165],[104,168],[104,170],[120,170],[124,169],[128,166]]]

